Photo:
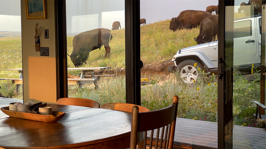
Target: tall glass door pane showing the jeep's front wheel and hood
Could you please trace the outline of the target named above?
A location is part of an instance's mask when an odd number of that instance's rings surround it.
[[[175,137],[175,144],[218,146],[217,5],[211,0],[141,1],[141,105],[161,109],[178,95],[175,136],[182,137]],[[212,29],[200,34],[201,22],[202,28],[212,23]],[[213,36],[206,34],[210,30]]]

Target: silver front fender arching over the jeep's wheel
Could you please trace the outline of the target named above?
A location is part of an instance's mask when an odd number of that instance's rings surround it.
[[[178,66],[182,61],[185,60],[198,61],[202,63],[204,66],[206,66],[206,69],[215,68],[212,62],[208,59],[208,57],[201,51],[176,54],[172,59],[172,61],[174,61],[176,66]]]

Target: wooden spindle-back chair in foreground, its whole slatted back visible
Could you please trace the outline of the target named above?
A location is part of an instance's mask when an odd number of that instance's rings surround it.
[[[132,122],[131,122],[131,136],[130,136],[130,149],[136,149],[138,132],[145,132],[151,130],[150,136],[150,149],[153,144],[154,129],[157,129],[155,149],[160,145],[160,149],[172,149],[174,144],[174,132],[177,119],[177,105],[178,97],[173,97],[173,102],[170,106],[149,112],[139,113],[139,107],[134,106],[132,109]],[[165,128],[166,126],[166,128]],[[161,139],[159,141],[159,134],[161,129]],[[165,130],[165,132],[164,132]],[[164,135],[165,134],[165,135]],[[168,134],[168,135],[167,135]],[[140,138],[140,136],[138,137]],[[164,138],[164,139],[163,139]],[[144,148],[146,148],[147,132],[144,133]],[[139,146],[140,148],[140,146]],[[142,147],[141,147],[142,148]]]

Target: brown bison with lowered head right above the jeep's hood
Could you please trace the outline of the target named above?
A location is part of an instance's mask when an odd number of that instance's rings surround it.
[[[200,34],[194,39],[197,44],[200,45],[206,42],[215,41],[216,35],[218,35],[218,16],[214,14],[200,23]]]

